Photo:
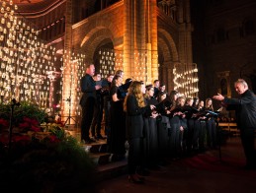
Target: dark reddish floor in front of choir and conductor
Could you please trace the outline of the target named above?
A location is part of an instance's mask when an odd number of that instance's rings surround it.
[[[244,163],[240,138],[230,137],[220,151],[168,161],[160,169],[151,170],[144,184],[130,183],[128,175],[122,174],[98,182],[95,190],[97,193],[255,193],[256,170],[244,170]]]

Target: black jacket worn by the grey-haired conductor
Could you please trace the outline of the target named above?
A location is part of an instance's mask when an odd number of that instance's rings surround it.
[[[224,103],[235,109],[236,123],[239,129],[256,129],[256,96],[247,90],[240,98],[224,98]]]

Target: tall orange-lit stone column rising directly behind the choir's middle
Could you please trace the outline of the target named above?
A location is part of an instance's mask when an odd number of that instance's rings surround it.
[[[124,6],[125,77],[139,73],[143,76],[140,80],[151,82],[158,79],[156,1],[125,0]]]

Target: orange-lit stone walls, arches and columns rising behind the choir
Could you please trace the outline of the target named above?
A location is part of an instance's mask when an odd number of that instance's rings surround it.
[[[56,47],[58,57],[63,57],[63,115],[69,109],[65,100],[70,96],[70,77],[75,82],[72,93],[76,93],[71,111],[77,115],[79,77],[70,70],[75,59],[68,59],[73,52],[83,53],[84,61],[95,63],[100,71],[105,64],[97,58],[99,50],[109,50],[115,56],[113,70],[124,70],[125,79],[146,84],[159,79],[168,92],[175,87],[175,65],[193,64],[190,1],[44,0],[27,4],[20,1],[18,5],[20,13],[38,27],[41,38]],[[59,69],[61,64],[57,66]]]

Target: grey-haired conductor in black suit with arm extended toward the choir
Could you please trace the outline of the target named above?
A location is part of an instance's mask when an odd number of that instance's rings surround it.
[[[256,150],[254,131],[256,130],[256,96],[248,89],[243,79],[234,83],[235,91],[240,98],[228,98],[226,96],[213,96],[213,99],[220,100],[226,105],[226,109],[235,110],[237,128],[240,130],[240,137],[244,154],[246,157],[246,169],[256,169]]]

